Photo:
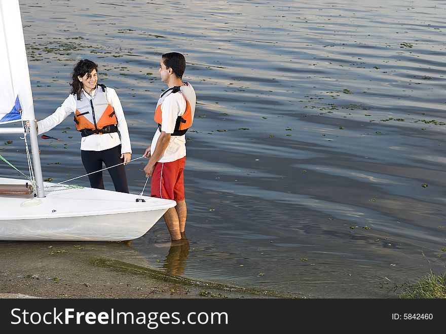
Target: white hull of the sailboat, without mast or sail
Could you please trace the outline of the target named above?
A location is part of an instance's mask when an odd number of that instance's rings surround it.
[[[0,183],[25,184],[26,180],[0,177]],[[46,192],[45,198],[0,195],[0,240],[136,239],[176,205],[175,201],[147,196],[141,197],[145,202],[136,202],[138,198],[139,195],[92,188]]]

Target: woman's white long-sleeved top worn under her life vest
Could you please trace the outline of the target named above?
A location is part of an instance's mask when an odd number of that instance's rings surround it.
[[[101,89],[99,87],[99,89]],[[108,103],[110,103],[115,109],[116,118],[118,120],[118,131],[121,135],[119,137],[117,132],[104,133],[101,135],[91,135],[87,137],[81,137],[81,150],[84,151],[103,151],[112,149],[112,147],[122,144],[121,153],[132,153],[130,145],[129,130],[127,122],[124,117],[124,110],[122,109],[121,101],[118,94],[113,88],[106,87],[106,95]],[[92,91],[91,96],[94,96],[97,92],[97,88]],[[92,97],[82,90],[83,98],[92,99]],[[77,95],[70,94],[62,105],[56,109],[56,111],[47,118],[38,122],[39,133],[42,134],[54,128],[56,125],[62,123],[71,113],[76,113]]]

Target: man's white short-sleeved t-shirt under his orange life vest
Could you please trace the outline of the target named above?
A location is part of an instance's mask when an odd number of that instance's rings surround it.
[[[191,84],[181,86],[181,92],[185,95],[191,105],[192,119],[195,115],[195,103],[196,96],[195,90]],[[166,133],[173,133],[175,129],[175,123],[178,116],[184,114],[186,110],[186,101],[181,93],[169,94],[164,98],[163,104],[161,105],[161,117],[163,124],[161,125],[161,130]],[[158,139],[160,138],[161,132],[157,129],[155,135],[152,139],[151,153],[155,152],[155,147],[157,145]],[[166,151],[161,156],[158,162],[172,162],[181,159],[186,156],[186,136],[170,136],[169,144],[167,145]]]

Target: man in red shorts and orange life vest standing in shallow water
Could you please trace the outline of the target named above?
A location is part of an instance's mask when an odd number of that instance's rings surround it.
[[[172,240],[184,237],[187,208],[184,200],[183,170],[186,156],[185,133],[195,115],[194,88],[181,78],[186,67],[184,56],[177,52],[162,55],[161,81],[167,84],[157,103],[155,122],[158,130],[144,153],[149,158],[144,167],[146,177],[152,176],[151,196],[176,201],[164,214]]]

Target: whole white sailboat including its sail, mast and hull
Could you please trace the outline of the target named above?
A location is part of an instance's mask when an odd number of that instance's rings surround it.
[[[18,0],[0,0],[0,124],[34,120],[31,83]],[[20,131],[21,129],[21,131]],[[17,127],[1,133],[24,133]],[[0,240],[122,241],[147,232],[175,201],[113,191],[82,188],[48,188],[43,182],[39,143],[34,126],[29,128],[36,197],[26,180],[1,178]],[[53,191],[57,190],[57,191]],[[15,193],[15,194],[12,194]]]

